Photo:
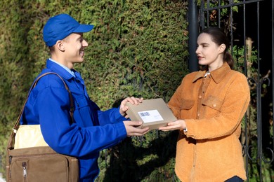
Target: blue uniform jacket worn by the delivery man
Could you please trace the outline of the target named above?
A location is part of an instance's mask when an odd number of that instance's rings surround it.
[[[86,92],[78,72],[72,76],[62,66],[47,60],[42,73],[55,72],[63,77],[74,99],[74,123],[70,119],[70,98],[62,80],[53,74],[42,77],[32,90],[21,125],[41,125],[46,143],[57,153],[79,158],[81,181],[94,181],[99,173],[99,151],[126,138],[119,109],[100,111]]]

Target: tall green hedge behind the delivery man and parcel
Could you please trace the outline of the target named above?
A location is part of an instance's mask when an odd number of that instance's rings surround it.
[[[102,110],[128,96],[166,102],[188,72],[187,1],[0,0],[0,155],[32,81],[49,57],[46,20],[68,13],[93,24],[85,62],[75,65]],[[98,181],[174,180],[176,133],[152,131],[102,151]]]

